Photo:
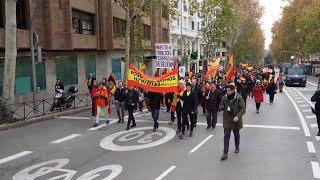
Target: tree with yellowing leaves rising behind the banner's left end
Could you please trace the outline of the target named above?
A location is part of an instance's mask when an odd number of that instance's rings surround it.
[[[168,0],[119,0],[121,7],[126,13],[126,33],[125,33],[125,72],[129,70],[130,61],[141,59],[144,51],[141,51],[142,20],[143,16],[152,16],[161,13],[161,9],[171,13],[172,6]],[[161,7],[161,8],[159,8]],[[126,82],[128,74],[124,74]]]

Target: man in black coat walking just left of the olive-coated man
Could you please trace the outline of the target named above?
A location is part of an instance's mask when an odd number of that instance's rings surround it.
[[[221,102],[221,93],[216,88],[214,83],[211,84],[211,88],[205,93],[205,104],[207,109],[207,130],[216,128],[219,104]]]

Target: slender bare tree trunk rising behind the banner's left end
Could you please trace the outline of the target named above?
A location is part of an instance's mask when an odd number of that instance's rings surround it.
[[[124,79],[123,81],[127,85],[128,81],[128,72],[129,72],[129,64],[130,64],[130,26],[131,26],[131,19],[130,19],[130,11],[129,7],[125,8],[126,11],[126,34],[125,34],[125,68],[124,68]]]

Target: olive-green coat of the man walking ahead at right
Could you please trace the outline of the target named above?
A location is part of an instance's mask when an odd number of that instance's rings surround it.
[[[223,110],[224,129],[241,129],[243,127],[242,116],[246,112],[246,107],[240,94],[236,93],[231,101],[227,98],[227,95],[223,96],[221,110]],[[236,116],[239,118],[239,121],[233,122]]]

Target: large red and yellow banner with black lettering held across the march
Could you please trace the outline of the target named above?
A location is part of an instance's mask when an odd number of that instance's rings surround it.
[[[179,69],[159,77],[150,77],[130,64],[128,72],[128,85],[139,87],[149,92],[170,93],[178,91]]]

